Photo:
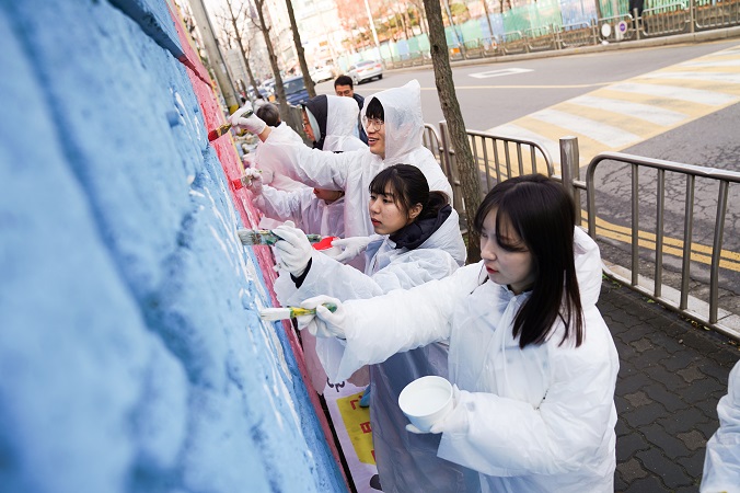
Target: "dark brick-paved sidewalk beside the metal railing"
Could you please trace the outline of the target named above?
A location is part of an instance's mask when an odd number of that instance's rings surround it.
[[[698,491],[739,346],[609,279],[598,306],[620,353],[615,491]]]

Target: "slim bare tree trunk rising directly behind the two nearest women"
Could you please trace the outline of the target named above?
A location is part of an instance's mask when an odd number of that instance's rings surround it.
[[[442,9],[439,0],[424,0],[424,7],[429,22],[429,50],[431,62],[435,68],[435,82],[437,94],[442,106],[442,114],[450,130],[450,141],[454,149],[454,160],[463,192],[465,205],[465,220],[467,223],[467,262],[474,263],[481,260],[481,240],[471,233],[471,226],[475,218],[475,211],[481,205],[481,183],[478,170],[473,161],[465,122],[460,112],[458,95],[452,81],[452,68],[444,38],[444,24],[442,23]]]

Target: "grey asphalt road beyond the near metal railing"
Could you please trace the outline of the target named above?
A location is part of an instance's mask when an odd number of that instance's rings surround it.
[[[600,111],[598,102],[603,101],[604,94],[611,95],[610,90],[615,85],[645,83],[656,81],[666,72],[686,70],[685,64],[695,64],[692,72],[710,72],[713,67],[705,67],[704,60],[712,59],[720,50],[731,49],[740,45],[740,39],[707,42],[701,44],[681,44],[651,48],[636,48],[617,51],[602,51],[577,54],[569,56],[547,57],[536,59],[512,59],[501,62],[481,62],[476,65],[454,66],[453,77],[458,99],[461,105],[465,125],[470,129],[488,130],[497,135],[507,135],[512,130],[525,127],[536,141],[550,142],[550,151],[554,157],[557,152],[557,139],[565,135],[578,135],[565,124],[564,119],[588,117],[608,124],[613,136],[620,133],[627,135],[622,144],[609,141],[609,131],[605,139],[590,139],[586,135],[579,137],[581,151],[581,169],[590,159],[602,151],[621,151],[637,156],[663,159],[681,163],[697,164],[708,168],[719,168],[740,171],[740,103],[729,105],[696,105],[675,100],[673,106],[654,110],[655,114],[671,115],[686,113],[690,117],[680,119],[675,124],[659,127],[640,127],[620,122],[621,115]],[[702,58],[704,57],[704,58]],[[737,73],[740,64],[729,70]],[[709,77],[707,76],[707,77]],[[702,76],[699,76],[702,77]],[[730,76],[731,77],[731,76]],[[427,123],[438,123],[442,119],[439,100],[430,67],[409,70],[386,71],[380,81],[372,81],[355,88],[362,95],[370,95],[383,89],[398,87],[412,79],[417,79],[423,88],[423,112]],[[658,83],[675,83],[657,80]],[[706,82],[706,81],[705,81]],[[697,88],[698,82],[686,82],[686,88]],[[736,83],[736,81],[732,81]],[[716,85],[716,88],[715,88]],[[718,89],[729,94],[740,94],[740,84],[737,89],[731,84],[719,83],[703,89]],[[605,92],[604,92],[605,91]],[[320,93],[332,93],[332,82],[317,87]],[[596,96],[596,99],[594,99]],[[625,98],[623,95],[623,98]],[[585,108],[582,101],[588,99],[592,107]],[[636,94],[626,96],[628,103],[655,103],[660,95],[645,96]],[[581,106],[575,108],[574,102]],[[673,104],[673,102],[669,102]],[[692,106],[692,104],[694,104]],[[686,107],[689,106],[689,107]],[[702,107],[699,107],[702,106]],[[575,110],[574,110],[575,108]],[[683,114],[682,113],[682,114]],[[623,116],[623,115],[622,115]],[[539,118],[539,119],[537,119]],[[610,119],[611,118],[611,119]],[[543,124],[543,121],[545,123]],[[588,119],[587,122],[591,122]],[[578,123],[578,122],[576,122]],[[588,134],[588,129],[581,129]],[[535,136],[536,134],[536,136]],[[618,139],[616,139],[618,140]],[[625,144],[626,142],[626,144]],[[618,170],[597,174],[597,190],[599,190],[599,215],[613,222],[616,227],[629,226],[629,174],[625,167]],[[681,238],[683,230],[683,195],[684,182],[678,177],[668,180],[668,196],[666,211],[666,232],[673,238]],[[649,197],[655,194],[655,172],[640,173],[640,194]],[[736,254],[740,252],[740,186],[730,187],[730,210],[725,222],[724,249]],[[715,230],[716,210],[714,203],[717,198],[717,186],[713,183],[697,181],[695,209],[695,225],[693,241],[699,245],[710,246],[712,234]],[[655,209],[654,198],[647,199],[648,206],[641,210],[646,218],[645,229],[652,227]],[[643,226],[640,227],[643,229]],[[602,250],[604,257],[620,265],[629,265],[629,246],[624,241],[606,238]],[[609,256],[608,256],[609,255]],[[640,273],[652,276],[654,253],[645,249],[640,255]],[[740,257],[738,257],[740,260]],[[663,261],[666,268],[664,282],[674,287],[680,286],[678,273],[681,261],[677,256],[667,255]],[[731,268],[720,270],[720,307],[740,313],[740,263]],[[696,262],[692,265],[692,294],[708,299],[706,283],[709,278],[708,264]]]

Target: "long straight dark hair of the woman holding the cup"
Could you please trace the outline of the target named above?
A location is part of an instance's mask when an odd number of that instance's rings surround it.
[[[532,294],[513,321],[512,333],[514,337],[519,335],[519,347],[545,342],[558,318],[565,324],[560,344],[575,336],[576,347],[580,346],[583,312],[574,261],[573,199],[556,181],[529,174],[500,182],[488,192],[475,213],[477,233],[494,209],[498,243],[506,248],[501,225],[510,225],[532,254]]]

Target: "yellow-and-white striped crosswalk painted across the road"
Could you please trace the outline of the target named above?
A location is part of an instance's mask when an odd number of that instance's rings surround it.
[[[600,152],[621,151],[737,102],[740,45],[596,88],[487,131],[539,142],[559,174],[564,136],[578,137],[582,167]]]

